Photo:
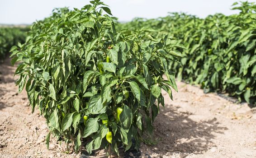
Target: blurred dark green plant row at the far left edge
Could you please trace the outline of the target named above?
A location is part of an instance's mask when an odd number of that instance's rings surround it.
[[[0,62],[12,46],[25,42],[26,31],[27,28],[0,28]]]

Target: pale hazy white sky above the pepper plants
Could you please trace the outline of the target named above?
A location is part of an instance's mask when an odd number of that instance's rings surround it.
[[[135,17],[157,18],[168,12],[185,12],[199,17],[209,14],[238,13],[230,10],[238,0],[103,0],[110,6],[119,21],[130,21]],[[246,1],[246,0],[241,0]],[[248,0],[256,2],[256,0]],[[0,0],[0,23],[30,24],[51,15],[52,9],[69,7],[80,9],[89,0]]]

